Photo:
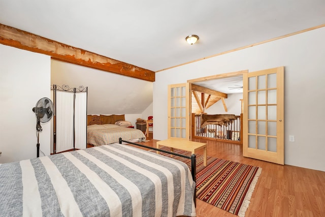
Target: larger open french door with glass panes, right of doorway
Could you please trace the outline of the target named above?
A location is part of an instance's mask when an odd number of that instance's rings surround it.
[[[244,74],[243,156],[284,164],[284,67]]]

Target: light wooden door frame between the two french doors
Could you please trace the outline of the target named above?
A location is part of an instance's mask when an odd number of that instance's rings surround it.
[[[211,75],[211,76],[207,76],[207,77],[187,80],[187,83],[189,83],[189,93],[192,92],[192,83],[194,83],[194,82],[243,76],[245,73],[248,73],[248,70],[241,70],[241,71],[237,71],[237,72],[223,73],[223,74],[217,74],[217,75]],[[190,136],[190,140],[191,140],[192,139],[192,126],[191,126],[192,125],[192,115],[191,115],[191,113],[192,113],[192,98],[191,97],[189,97],[189,99],[188,99],[188,108],[190,111],[188,128],[189,128],[189,136]]]

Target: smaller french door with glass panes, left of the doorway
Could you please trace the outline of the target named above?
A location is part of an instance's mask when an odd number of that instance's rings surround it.
[[[189,84],[168,85],[168,138],[189,140]]]

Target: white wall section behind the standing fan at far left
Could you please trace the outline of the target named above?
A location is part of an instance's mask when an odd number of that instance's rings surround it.
[[[49,56],[0,44],[0,163],[36,158],[32,108],[50,98],[50,70]],[[49,155],[50,123],[41,125],[40,150]]]

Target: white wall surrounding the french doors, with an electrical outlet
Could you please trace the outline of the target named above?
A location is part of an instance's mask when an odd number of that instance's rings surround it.
[[[325,171],[325,27],[156,73],[154,139],[167,138],[167,86],[284,66],[284,163]],[[200,72],[200,73],[198,73]],[[289,135],[296,141],[289,142]]]

